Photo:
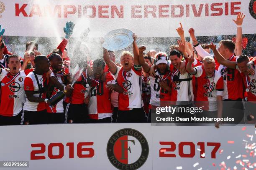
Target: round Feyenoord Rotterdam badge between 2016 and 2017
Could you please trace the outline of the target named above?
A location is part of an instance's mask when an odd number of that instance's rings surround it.
[[[137,170],[146,162],[148,153],[148,142],[138,130],[121,129],[108,140],[108,159],[119,170]]]

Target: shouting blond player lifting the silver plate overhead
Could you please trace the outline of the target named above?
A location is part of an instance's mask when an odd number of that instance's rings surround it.
[[[138,61],[137,36],[133,34],[133,55],[124,51],[120,61],[123,67],[118,67],[110,60],[109,55],[104,55],[104,60],[110,72],[116,77],[118,85],[123,87],[124,92],[118,96],[117,122],[146,122],[141,98],[142,80],[141,65]]]

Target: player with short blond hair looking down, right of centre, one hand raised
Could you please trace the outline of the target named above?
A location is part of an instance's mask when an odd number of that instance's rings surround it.
[[[223,110],[223,77],[221,73],[215,70],[215,61],[212,57],[205,57],[203,65],[192,67],[194,62],[193,55],[188,58],[187,71],[195,74],[197,77],[197,95],[195,105],[202,107],[203,112],[197,113],[197,117],[222,117]],[[203,122],[198,122],[203,123]],[[206,123],[214,123],[206,122]],[[221,122],[215,122],[215,127],[219,128]]]

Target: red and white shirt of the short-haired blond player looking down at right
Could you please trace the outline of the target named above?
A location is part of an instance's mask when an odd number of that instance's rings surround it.
[[[216,111],[217,110],[217,96],[223,95],[224,85],[223,77],[220,72],[215,70],[212,77],[207,77],[204,66],[195,67],[197,73],[197,95],[195,101],[197,107],[203,107],[203,110]]]

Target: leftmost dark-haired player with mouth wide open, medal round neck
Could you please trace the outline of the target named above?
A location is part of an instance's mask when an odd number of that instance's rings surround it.
[[[10,72],[0,68],[0,125],[20,125],[22,104],[25,96],[24,79],[33,70],[20,70],[20,58],[8,57]]]

